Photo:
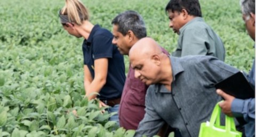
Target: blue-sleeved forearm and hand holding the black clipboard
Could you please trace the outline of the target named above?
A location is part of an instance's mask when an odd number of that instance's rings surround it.
[[[237,99],[228,95],[222,90],[217,90],[218,95],[225,100],[220,102],[222,112],[228,116],[243,117],[246,122],[254,121],[255,119],[255,98]]]

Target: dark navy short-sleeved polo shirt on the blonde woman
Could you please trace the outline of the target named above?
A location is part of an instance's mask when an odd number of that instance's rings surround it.
[[[116,99],[122,96],[125,82],[124,58],[115,45],[113,35],[107,29],[95,25],[89,38],[83,42],[84,65],[89,68],[94,79],[94,60],[108,58],[107,81],[100,90],[99,99]]]

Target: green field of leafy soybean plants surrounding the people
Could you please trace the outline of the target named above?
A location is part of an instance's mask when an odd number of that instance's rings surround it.
[[[84,98],[83,39],[70,36],[59,22],[65,1],[0,1],[0,136],[133,136],[135,131],[108,121],[113,114],[101,113],[98,100]],[[118,13],[134,10],[145,20],[148,36],[170,53],[177,46],[178,35],[165,13],[167,0],[82,2],[93,24],[112,31]],[[254,42],[239,1],[200,3],[205,22],[225,45],[225,62],[249,72]],[[127,72],[127,56],[125,67]]]

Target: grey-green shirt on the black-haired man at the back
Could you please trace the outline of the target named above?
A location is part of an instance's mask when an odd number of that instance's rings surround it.
[[[203,18],[196,17],[180,28],[178,47],[172,56],[209,55],[225,60],[225,48],[220,37]]]

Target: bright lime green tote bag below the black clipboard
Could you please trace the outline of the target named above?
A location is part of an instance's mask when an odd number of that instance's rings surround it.
[[[225,126],[220,125],[220,106],[217,103],[213,109],[210,122],[201,123],[199,137],[241,137],[242,133],[236,131],[234,119],[226,117]]]

